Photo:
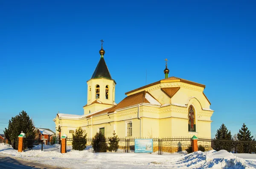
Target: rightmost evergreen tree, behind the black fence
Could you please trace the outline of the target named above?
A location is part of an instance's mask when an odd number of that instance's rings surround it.
[[[237,133],[237,139],[239,141],[252,141],[253,136],[250,134],[250,130],[248,130],[247,126],[243,124],[242,128]],[[237,145],[237,152],[238,153],[252,153],[255,151],[255,147],[252,143],[239,143]]]

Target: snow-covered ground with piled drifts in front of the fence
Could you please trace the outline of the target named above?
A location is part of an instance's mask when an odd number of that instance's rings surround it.
[[[194,152],[188,155],[156,155],[144,153],[92,153],[88,150],[17,152],[12,146],[0,143],[0,155],[71,169],[255,169],[256,154],[232,154],[225,150]]]

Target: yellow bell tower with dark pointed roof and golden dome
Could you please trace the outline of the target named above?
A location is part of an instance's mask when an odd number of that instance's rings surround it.
[[[93,113],[101,109],[112,107],[115,104],[116,82],[112,79],[104,60],[105,50],[99,50],[100,59],[90,80],[87,81],[87,105],[84,114]]]

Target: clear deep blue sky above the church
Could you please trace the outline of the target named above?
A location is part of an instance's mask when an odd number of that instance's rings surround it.
[[[0,133],[22,110],[54,130],[59,112],[83,114],[99,61],[125,92],[169,76],[206,85],[212,137],[224,123],[256,135],[255,1],[1,1]]]

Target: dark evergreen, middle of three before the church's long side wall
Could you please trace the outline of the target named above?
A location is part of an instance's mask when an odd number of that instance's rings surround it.
[[[106,137],[101,132],[97,132],[93,137],[92,146],[94,152],[107,152],[108,144],[106,143]]]

